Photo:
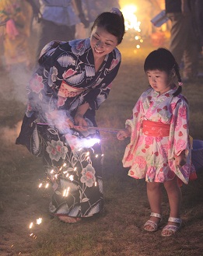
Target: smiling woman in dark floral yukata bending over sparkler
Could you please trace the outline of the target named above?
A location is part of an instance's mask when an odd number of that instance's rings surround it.
[[[16,143],[43,156],[54,188],[50,212],[65,223],[103,211],[100,134],[89,127],[96,127],[95,111],[121,65],[117,44],[123,36],[122,13],[103,12],[90,38],[47,44],[30,80]]]

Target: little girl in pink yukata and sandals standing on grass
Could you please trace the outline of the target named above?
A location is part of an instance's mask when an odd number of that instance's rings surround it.
[[[194,166],[191,164],[191,145],[188,130],[188,103],[181,95],[179,67],[170,51],[159,48],[145,59],[144,70],[150,88],[138,99],[131,119],[117,139],[128,136],[131,142],[125,149],[123,165],[130,167],[128,175],[145,177],[151,208],[144,230],[158,230],[162,219],[161,184],[170,203],[170,218],[162,236],[170,237],[180,229],[181,191],[178,181],[188,183]],[[177,76],[178,85],[175,84]]]

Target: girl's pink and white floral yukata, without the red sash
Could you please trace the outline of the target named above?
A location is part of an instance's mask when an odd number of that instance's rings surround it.
[[[173,96],[176,87],[159,95],[154,89],[147,89],[133,108],[131,119],[131,142],[125,149],[123,165],[130,167],[128,175],[148,182],[170,181],[177,175],[187,184],[195,174],[191,163],[191,142],[189,139],[187,100],[183,95]],[[143,121],[170,124],[169,135],[146,135]],[[155,131],[157,133],[157,131]],[[185,150],[187,163],[176,167],[175,156]]]

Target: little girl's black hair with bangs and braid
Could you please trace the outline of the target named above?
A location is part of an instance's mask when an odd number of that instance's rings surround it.
[[[155,51],[152,51],[145,59],[144,70],[160,70],[165,71],[168,75],[171,74],[173,69],[176,72],[178,82],[181,82],[179,66],[177,61],[173,57],[173,54],[166,48],[160,47]],[[178,86],[177,91],[173,93],[173,96],[177,96],[182,91],[182,86]]]

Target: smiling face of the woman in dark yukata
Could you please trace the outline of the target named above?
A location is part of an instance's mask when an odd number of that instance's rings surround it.
[[[94,58],[101,58],[117,47],[117,37],[108,33],[103,27],[95,26],[90,36],[90,45]]]

